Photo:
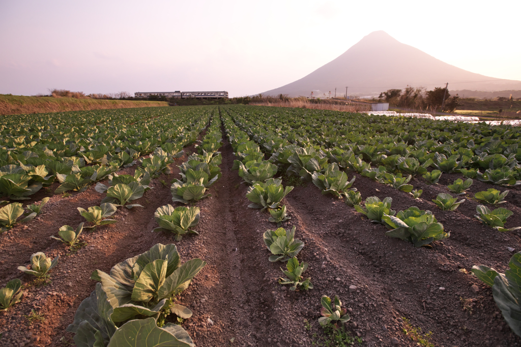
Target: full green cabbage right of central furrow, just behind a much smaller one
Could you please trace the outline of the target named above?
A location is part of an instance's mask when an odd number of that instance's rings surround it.
[[[257,182],[248,188],[246,197],[252,202],[248,205],[251,208],[277,208],[284,196],[293,190],[291,185],[286,188],[282,186],[281,179],[270,178],[266,182]]]

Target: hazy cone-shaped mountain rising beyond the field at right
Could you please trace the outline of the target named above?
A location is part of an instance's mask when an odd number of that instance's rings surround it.
[[[333,92],[337,95],[375,95],[407,85],[432,90],[449,82],[449,90],[521,90],[521,81],[502,80],[469,72],[403,44],[384,31],[365,36],[338,58],[295,82],[262,94],[315,96]]]

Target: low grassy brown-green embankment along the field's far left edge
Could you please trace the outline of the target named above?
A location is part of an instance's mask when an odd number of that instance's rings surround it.
[[[0,115],[151,106],[168,106],[168,103],[162,101],[96,100],[0,94]]]

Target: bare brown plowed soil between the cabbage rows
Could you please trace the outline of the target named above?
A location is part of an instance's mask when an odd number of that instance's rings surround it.
[[[304,275],[311,276],[314,289],[291,292],[278,284],[284,265],[268,261],[270,253],[262,239],[264,231],[276,226],[268,222],[267,211],[247,207],[247,186],[231,170],[235,157],[224,133],[223,140],[222,177],[209,189],[212,197],[196,204],[201,208],[195,228],[200,234],[179,242],[172,234],[151,230],[157,227],[156,208],[173,205],[169,182],[179,177],[176,165],[186,155],[171,165],[170,175],[152,180],[153,189],[136,201],[144,207],[119,207],[113,216],[117,224],[84,231],[86,245],[77,252],[49,237],[57,236],[60,226],[76,227],[84,221],[77,207],[99,205],[104,195],[91,187],[64,198],[52,195],[56,187],[50,187],[35,196],[32,201],[51,196],[44,213],[0,235],[0,283],[20,278],[26,291],[22,302],[0,314],[4,332],[0,345],[69,345],[73,334],[65,329],[81,301],[94,290],[95,281],[89,279],[93,270],[108,272],[156,243],[175,243],[182,261],[199,257],[207,262],[178,298],[194,313],[183,327],[200,347],[311,346],[322,336],[318,325],[322,295],[339,295],[351,316],[346,327],[365,346],[417,345],[402,331],[409,328],[403,317],[411,326],[431,331],[429,340],[436,346],[521,346],[521,339],[505,324],[491,289],[469,272],[473,265],[504,272],[513,254],[507,247],[521,250],[520,233],[482,226],[474,218],[478,203],[466,196],[462,199],[467,201],[453,212],[436,207],[431,200],[440,192],[448,193],[445,186],[460,175],[444,173],[439,185],[427,185],[421,178],[411,181],[415,189],[424,190],[418,200],[356,175],[354,187],[363,199],[391,196],[394,210],[410,206],[432,210],[445,231],[451,232],[432,249],[416,249],[386,237],[386,228],[372,224],[342,200],[321,195],[312,183],[297,185],[283,200],[291,217],[283,227],[296,226],[295,237],[304,241],[298,258],[309,263]],[[185,148],[187,154],[193,151]],[[475,180],[467,196],[491,187],[498,188]],[[506,200],[502,206],[514,212],[506,227],[521,225],[519,189],[511,189]],[[50,257],[60,255],[48,284],[38,284],[17,269],[39,251]]]

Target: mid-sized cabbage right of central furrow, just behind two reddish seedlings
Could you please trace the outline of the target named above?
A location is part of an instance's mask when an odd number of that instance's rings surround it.
[[[295,239],[295,226],[291,230],[278,228],[277,230],[266,230],[263,239],[264,244],[274,255],[269,257],[270,262],[287,262],[293,258],[304,247],[304,242]]]

